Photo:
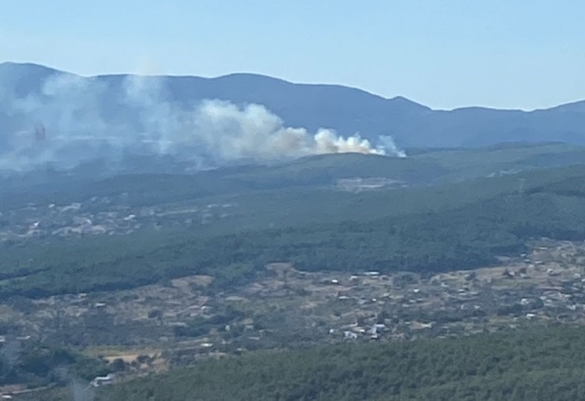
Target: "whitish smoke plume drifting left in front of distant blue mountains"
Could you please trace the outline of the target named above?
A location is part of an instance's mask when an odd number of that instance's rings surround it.
[[[322,153],[406,156],[390,137],[381,137],[375,146],[359,134],[345,138],[328,129],[312,133],[285,126],[258,104],[179,104],[165,88],[165,79],[155,77],[105,81],[55,75],[37,95],[3,101],[8,116],[30,125],[42,122],[47,139],[35,140],[27,130],[9,132],[5,149],[0,149],[0,170],[46,164],[67,169],[97,159],[115,165],[133,155],[169,156],[197,168]],[[9,94],[0,95],[5,99]]]

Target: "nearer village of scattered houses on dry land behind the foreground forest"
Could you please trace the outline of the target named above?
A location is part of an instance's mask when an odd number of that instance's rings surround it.
[[[429,277],[267,266],[217,292],[189,276],[134,290],[0,305],[0,343],[69,344],[144,375],[197,358],[316,343],[401,341],[585,323],[585,244],[535,241],[500,266]],[[118,361],[118,364],[121,362]]]

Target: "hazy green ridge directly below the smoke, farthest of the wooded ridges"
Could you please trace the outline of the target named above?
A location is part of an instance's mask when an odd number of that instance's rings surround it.
[[[37,172],[0,182],[3,206],[79,202],[123,196],[132,206],[160,205],[257,191],[331,188],[337,179],[385,177],[405,185],[439,185],[490,175],[583,164],[585,148],[564,143],[508,144],[481,149],[415,150],[405,159],[356,153],[328,154],[282,164],[245,165],[197,174],[165,172],[101,177],[95,168]],[[152,162],[152,161],[151,161]],[[160,167],[160,168],[159,168]],[[106,166],[101,168],[101,173]]]

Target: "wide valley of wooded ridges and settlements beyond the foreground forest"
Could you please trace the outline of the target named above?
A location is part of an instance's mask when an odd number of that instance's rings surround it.
[[[100,396],[275,350],[580,327],[585,173],[558,162],[574,152],[6,179],[0,392]]]

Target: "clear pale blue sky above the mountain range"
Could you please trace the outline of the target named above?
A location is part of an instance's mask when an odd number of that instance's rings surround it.
[[[583,0],[0,0],[0,62],[253,72],[434,109],[585,99]]]

